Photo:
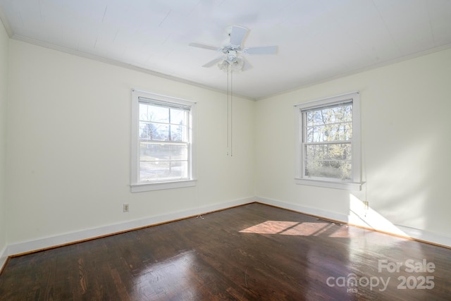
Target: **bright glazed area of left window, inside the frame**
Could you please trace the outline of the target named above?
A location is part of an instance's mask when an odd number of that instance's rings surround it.
[[[140,102],[140,180],[188,178],[187,109]]]

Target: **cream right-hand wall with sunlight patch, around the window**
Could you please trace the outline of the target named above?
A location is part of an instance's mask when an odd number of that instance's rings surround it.
[[[451,238],[450,79],[447,49],[257,102],[257,196],[330,217],[352,216],[352,201],[367,200],[373,217]],[[295,185],[292,106],[355,90],[362,100],[362,191]]]

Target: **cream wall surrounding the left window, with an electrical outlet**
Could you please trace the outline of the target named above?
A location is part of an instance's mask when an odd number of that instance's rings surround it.
[[[228,157],[226,94],[16,40],[9,82],[8,244],[254,196],[255,102]],[[132,88],[197,102],[196,187],[130,193]]]

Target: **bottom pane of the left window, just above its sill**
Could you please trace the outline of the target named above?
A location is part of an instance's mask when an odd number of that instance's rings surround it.
[[[178,180],[188,178],[187,161],[141,161],[140,180]]]

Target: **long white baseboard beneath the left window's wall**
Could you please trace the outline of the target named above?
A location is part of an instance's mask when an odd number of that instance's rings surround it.
[[[66,245],[72,242],[78,242],[82,240],[89,240],[92,238],[97,238],[105,235],[111,235],[114,233],[121,233],[123,231],[129,231],[136,228],[142,228],[145,226],[152,226],[158,223],[164,223],[168,221],[174,221],[177,219],[184,219],[189,216],[195,216],[197,214],[205,214],[211,211],[217,211],[221,209],[227,209],[230,207],[240,206],[243,204],[249,204],[255,202],[254,197],[249,197],[245,199],[236,199],[230,202],[223,202],[219,204],[211,204],[204,207],[199,207],[195,209],[187,209],[183,211],[176,211],[170,214],[163,214],[159,216],[152,216],[146,219],[138,219],[135,221],[127,221],[125,223],[115,223],[108,226],[102,226],[99,228],[92,228],[84,231],[77,231],[73,233],[66,233],[56,236],[51,236],[49,238],[41,238],[37,240],[30,240],[26,242],[18,242],[12,245],[8,245],[2,250],[6,258],[11,255],[23,254],[27,252],[33,252],[37,250],[43,250],[50,247],[56,247],[58,245]],[[3,257],[0,257],[2,260]],[[1,261],[0,261],[1,266]]]

